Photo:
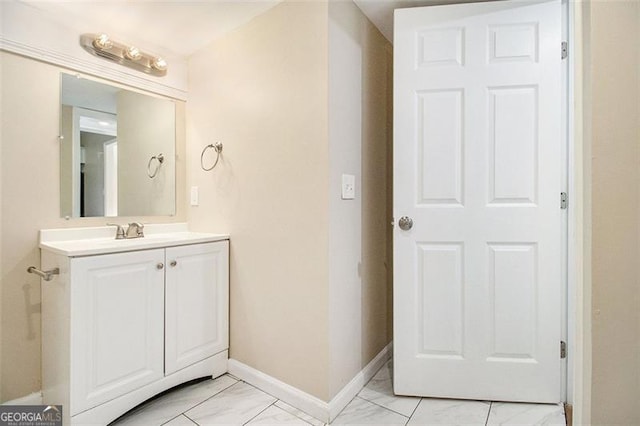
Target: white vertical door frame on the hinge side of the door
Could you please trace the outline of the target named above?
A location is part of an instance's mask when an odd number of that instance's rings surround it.
[[[563,0],[569,46],[566,73],[567,188],[567,365],[566,401],[573,424],[591,423],[591,139],[588,128],[589,0]],[[586,73],[586,74],[585,74]]]

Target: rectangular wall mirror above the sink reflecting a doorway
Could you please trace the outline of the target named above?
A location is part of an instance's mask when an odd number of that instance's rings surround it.
[[[69,74],[61,87],[62,216],[175,214],[173,101]]]

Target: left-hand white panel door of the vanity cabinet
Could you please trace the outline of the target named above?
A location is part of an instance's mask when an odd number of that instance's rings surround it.
[[[164,253],[71,259],[71,415],[163,377]]]

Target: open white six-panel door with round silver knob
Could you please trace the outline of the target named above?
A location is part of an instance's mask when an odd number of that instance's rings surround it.
[[[558,0],[396,10],[397,394],[561,400],[560,37]]]

